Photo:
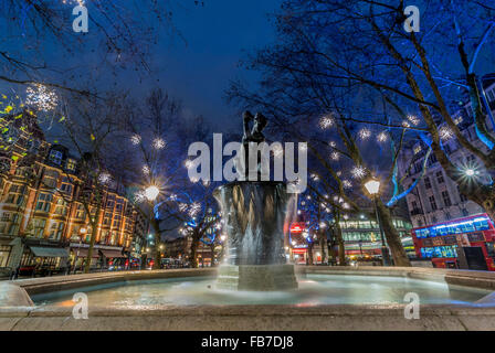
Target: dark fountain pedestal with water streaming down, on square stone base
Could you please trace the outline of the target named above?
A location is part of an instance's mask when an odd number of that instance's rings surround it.
[[[228,236],[217,287],[238,290],[297,288],[286,264],[284,225],[292,194],[283,182],[239,181],[214,192]]]

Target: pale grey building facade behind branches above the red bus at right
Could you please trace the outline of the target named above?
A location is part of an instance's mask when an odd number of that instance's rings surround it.
[[[495,83],[485,85],[485,95],[491,110],[495,110]],[[475,131],[473,124],[473,109],[471,103],[464,104],[454,115],[453,119],[463,136],[481,150],[486,151]],[[486,126],[494,131],[494,124],[488,117]],[[441,128],[442,129],[442,128]],[[489,174],[482,167],[477,158],[466,149],[460,147],[454,138],[444,139],[444,150],[454,164],[462,170],[472,170],[477,181],[489,182]],[[412,141],[404,147],[399,164],[399,173],[403,178],[402,186],[408,189],[417,179],[418,185],[407,195],[409,214],[414,227],[445,222],[483,213],[482,206],[468,201],[449,176],[446,176],[436,158],[431,153],[426,160],[424,175],[423,163],[426,158],[428,146],[420,141]],[[466,180],[467,182],[467,180]]]

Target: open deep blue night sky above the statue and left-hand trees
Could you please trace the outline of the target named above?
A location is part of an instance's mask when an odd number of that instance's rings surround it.
[[[275,41],[275,31],[267,14],[275,12],[282,0],[204,0],[204,6],[201,1],[199,6],[194,2],[170,2],[177,32],[170,34],[161,29],[158,43],[149,49],[150,55],[146,58],[149,73],[143,71],[136,74],[129,65],[113,76],[106,66],[99,65],[102,47],[98,46],[98,38],[92,38],[96,32],[92,32],[91,22],[89,35],[72,32],[74,17],[71,15],[70,4],[65,11],[66,29],[70,39],[80,43],[73,46],[73,53],[62,51],[60,43],[53,39],[38,38],[35,33],[21,35],[21,22],[19,26],[12,26],[12,22],[1,20],[0,32],[3,45],[17,57],[30,63],[39,61],[40,65],[46,63],[55,68],[44,72],[48,82],[77,86],[72,79],[80,79],[83,86],[89,83],[98,92],[126,89],[135,100],[144,98],[150,89],[161,87],[182,100],[186,114],[202,115],[220,131],[227,128],[225,124],[240,121],[233,120],[240,119],[240,116],[235,107],[227,106],[224,90],[233,78],[243,78],[247,83],[256,81],[256,73],[243,71],[238,63],[246,52]],[[91,14],[91,7],[88,11]],[[156,21],[156,18],[147,19],[143,12],[136,14],[135,20]],[[38,47],[32,43],[41,45]],[[0,83],[1,92],[10,88],[9,84]],[[13,89],[22,95],[25,87],[17,86]]]

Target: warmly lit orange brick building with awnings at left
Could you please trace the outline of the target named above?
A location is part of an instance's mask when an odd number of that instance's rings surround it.
[[[146,226],[123,186],[108,182],[97,207],[80,161],[65,147],[45,141],[32,113],[2,117],[0,128],[0,268],[82,266],[89,217],[99,220],[92,266],[128,258]]]

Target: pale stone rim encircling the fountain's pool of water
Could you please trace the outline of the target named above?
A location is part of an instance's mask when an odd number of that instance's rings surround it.
[[[495,290],[495,272],[420,267],[298,266],[304,274],[393,276],[443,280]],[[421,304],[421,320],[404,319],[406,303],[263,306],[92,306],[88,320],[74,320],[72,308],[34,307],[29,293],[64,284],[76,287],[108,281],[214,275],[215,268],[102,272],[0,282],[0,330],[495,330],[495,292],[477,306]],[[65,278],[69,277],[69,278]],[[3,290],[8,287],[9,296]],[[15,295],[17,290],[17,295]],[[15,299],[18,302],[14,302]],[[7,302],[6,302],[7,299]],[[10,299],[10,300],[9,300]],[[28,299],[28,300],[27,300]],[[483,299],[482,299],[483,300]],[[10,302],[10,306],[8,303]]]

